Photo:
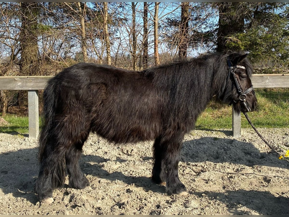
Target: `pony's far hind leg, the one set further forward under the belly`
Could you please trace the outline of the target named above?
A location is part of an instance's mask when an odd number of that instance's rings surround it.
[[[80,142],[72,145],[65,154],[66,169],[69,176],[69,187],[76,189],[89,189],[89,181],[84,176],[79,167],[79,159],[81,157],[82,146],[88,137],[88,133],[85,138]]]

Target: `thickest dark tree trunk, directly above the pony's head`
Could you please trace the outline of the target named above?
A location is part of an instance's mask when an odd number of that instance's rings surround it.
[[[218,52],[227,52],[227,38],[244,30],[242,2],[221,2],[219,5],[219,28],[217,33]]]

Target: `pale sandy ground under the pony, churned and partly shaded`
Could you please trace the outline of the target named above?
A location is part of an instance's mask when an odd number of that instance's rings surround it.
[[[80,164],[92,190],[54,190],[41,204],[34,194],[38,142],[0,133],[0,214],[288,214],[286,161],[251,129],[194,130],[181,150],[179,176],[189,195],[167,196],[151,182],[152,142],[115,146],[91,134]],[[289,146],[289,129],[260,129],[270,142]]]

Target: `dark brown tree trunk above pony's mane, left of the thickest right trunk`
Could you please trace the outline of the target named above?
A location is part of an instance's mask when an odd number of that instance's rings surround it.
[[[180,44],[179,44],[179,58],[186,58],[187,57],[187,50],[188,50],[188,27],[189,27],[189,2],[182,2],[181,3],[181,23],[180,23]]]

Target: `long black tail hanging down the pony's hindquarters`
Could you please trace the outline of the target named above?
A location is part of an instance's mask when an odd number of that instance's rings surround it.
[[[52,78],[49,80],[47,86],[43,91],[43,116],[42,130],[39,137],[39,152],[38,160],[41,162],[45,147],[51,138],[51,131],[53,129],[53,119],[56,113],[58,101],[58,82],[57,79]]]

